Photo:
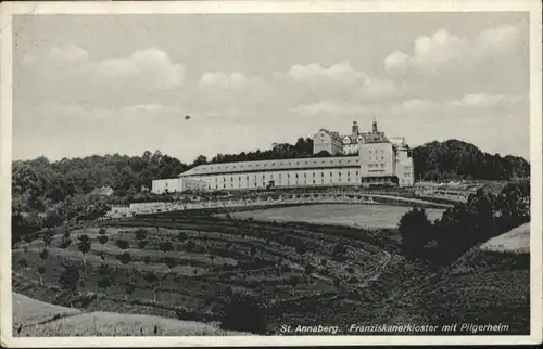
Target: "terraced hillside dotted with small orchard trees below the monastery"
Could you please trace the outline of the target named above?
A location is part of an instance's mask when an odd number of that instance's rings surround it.
[[[394,231],[211,214],[141,216],[72,231],[70,237],[58,234],[45,259],[43,241],[20,243],[13,251],[14,290],[86,311],[204,322],[220,321],[230,295],[247,294],[262,305],[267,329],[274,333],[296,319],[352,321],[374,310],[378,316],[380,310],[371,309],[376,299],[425,273],[397,254]],[[81,235],[91,243],[85,256],[77,246]],[[74,266],[84,270],[78,297],[60,283],[60,275]],[[45,267],[42,274],[39,267]]]

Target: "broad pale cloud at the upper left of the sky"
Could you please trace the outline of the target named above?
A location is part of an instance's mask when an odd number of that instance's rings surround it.
[[[135,101],[154,104],[161,94],[176,91],[185,82],[185,67],[153,48],[97,60],[80,47],[58,46],[25,56],[21,64],[14,64],[14,69],[21,81],[31,81],[25,86],[24,99],[33,103],[51,101],[106,108],[127,107]]]

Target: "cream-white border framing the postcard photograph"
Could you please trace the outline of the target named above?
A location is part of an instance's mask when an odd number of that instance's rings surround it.
[[[1,344],[9,347],[497,345],[542,342],[542,24],[539,0],[15,2],[0,4],[0,309]],[[530,12],[531,334],[530,336],[263,336],[13,338],[11,305],[11,124],[13,14],[182,14],[316,12]],[[539,214],[539,215],[538,215]]]

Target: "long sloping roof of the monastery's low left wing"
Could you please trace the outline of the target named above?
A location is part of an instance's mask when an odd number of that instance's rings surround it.
[[[349,168],[359,167],[359,164],[361,159],[358,156],[304,157],[277,160],[209,164],[197,166],[182,172],[179,177],[314,168]]]

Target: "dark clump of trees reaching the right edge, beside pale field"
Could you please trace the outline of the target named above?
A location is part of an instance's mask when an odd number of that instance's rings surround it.
[[[399,231],[408,257],[443,266],[529,221],[530,181],[520,180],[508,183],[497,195],[480,189],[433,222],[424,208],[414,207],[401,218]]]

